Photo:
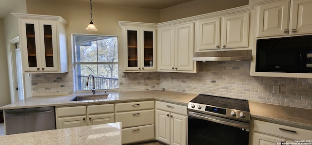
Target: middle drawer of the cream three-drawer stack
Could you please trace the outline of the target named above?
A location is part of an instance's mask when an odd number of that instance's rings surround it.
[[[154,124],[154,109],[125,113],[116,113],[116,122],[122,122],[122,128]]]

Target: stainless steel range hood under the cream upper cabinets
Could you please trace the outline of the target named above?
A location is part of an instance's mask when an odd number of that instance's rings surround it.
[[[252,50],[196,52],[193,61],[250,61]]]

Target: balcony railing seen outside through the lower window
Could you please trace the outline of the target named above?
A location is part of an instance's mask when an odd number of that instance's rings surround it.
[[[78,90],[91,90],[93,88],[93,79],[89,78],[89,86],[86,85],[88,76],[78,76]],[[117,89],[117,78],[94,77],[96,89]]]

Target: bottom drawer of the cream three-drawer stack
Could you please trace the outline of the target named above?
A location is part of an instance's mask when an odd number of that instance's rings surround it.
[[[121,136],[122,144],[155,140],[154,124],[122,129]]]

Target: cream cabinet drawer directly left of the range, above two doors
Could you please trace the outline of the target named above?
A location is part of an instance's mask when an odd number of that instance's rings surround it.
[[[171,113],[179,113],[182,115],[187,115],[186,106],[181,106],[181,105],[176,105],[176,104],[171,104],[171,103],[166,103],[166,102],[156,101],[156,109],[168,111]]]

